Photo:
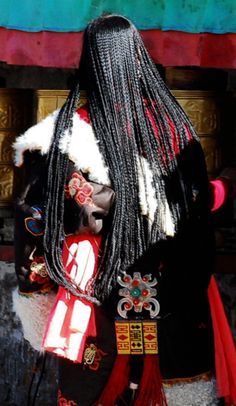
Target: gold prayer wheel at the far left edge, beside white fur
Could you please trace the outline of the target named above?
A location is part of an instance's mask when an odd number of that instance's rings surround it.
[[[9,209],[13,194],[12,143],[32,120],[32,92],[0,89],[0,209]]]

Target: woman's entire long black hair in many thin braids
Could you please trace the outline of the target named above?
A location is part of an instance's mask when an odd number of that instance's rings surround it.
[[[88,25],[84,33],[81,72],[91,124],[116,194],[92,293],[103,300],[116,284],[119,273],[134,264],[152,244],[166,238],[158,214],[158,207],[165,199],[178,231],[193,196],[179,170],[176,148],[181,152],[191,142],[199,141],[150,59],[138,31],[126,18],[104,16]],[[81,292],[66,276],[61,260],[68,156],[60,152],[58,145],[65,131],[71,130],[79,88],[77,84],[59,113],[48,155],[44,236],[49,275],[76,295]],[[141,157],[148,163],[154,179],[157,210],[151,227],[140,211]],[[176,193],[168,193],[173,178]],[[146,184],[145,193],[148,195]]]

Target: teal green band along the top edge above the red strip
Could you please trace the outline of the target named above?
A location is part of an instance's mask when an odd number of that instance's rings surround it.
[[[23,31],[82,31],[102,13],[130,18],[139,29],[236,32],[235,0],[0,0],[0,26]]]

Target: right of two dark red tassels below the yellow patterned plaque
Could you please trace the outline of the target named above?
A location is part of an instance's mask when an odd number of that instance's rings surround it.
[[[135,406],[166,406],[164,389],[157,355],[146,355],[144,358],[144,371],[138,389],[138,398]]]

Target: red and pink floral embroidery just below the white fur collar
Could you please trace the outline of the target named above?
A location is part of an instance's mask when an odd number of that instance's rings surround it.
[[[86,181],[86,179],[77,172],[71,175],[71,179],[65,188],[66,198],[75,199],[79,206],[85,204],[93,205],[91,195],[93,193],[93,186]]]

